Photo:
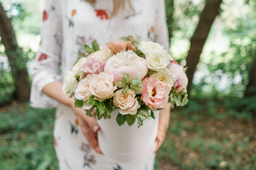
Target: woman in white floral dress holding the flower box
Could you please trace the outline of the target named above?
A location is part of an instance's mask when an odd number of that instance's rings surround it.
[[[54,142],[60,169],[154,169],[155,154],[136,164],[105,157],[97,143],[97,121],[75,108],[73,98],[62,91],[63,75],[83,44],[97,40],[105,45],[127,35],[154,40],[169,50],[164,0],[46,0],[31,106],[48,108],[58,101]],[[161,110],[156,151],[165,138],[169,112],[170,106]]]

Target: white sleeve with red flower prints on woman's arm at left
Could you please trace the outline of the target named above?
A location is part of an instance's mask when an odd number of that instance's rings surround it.
[[[31,86],[31,106],[52,108],[57,101],[42,93],[42,89],[53,81],[60,81],[60,54],[62,46],[62,27],[58,0],[46,0],[41,28],[41,45],[33,62],[33,81]]]

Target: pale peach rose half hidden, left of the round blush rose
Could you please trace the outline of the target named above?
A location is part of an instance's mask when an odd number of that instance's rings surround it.
[[[75,98],[78,98],[80,101],[87,101],[89,99],[91,96],[90,81],[92,81],[92,76],[89,74],[78,83],[78,87],[75,89]]]

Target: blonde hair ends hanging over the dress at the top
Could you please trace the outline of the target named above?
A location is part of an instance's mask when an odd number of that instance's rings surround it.
[[[95,4],[96,0],[85,0],[89,2],[90,4]],[[125,9],[128,11],[128,13],[134,12],[134,8],[132,6],[131,0],[112,0],[113,3],[113,11],[110,15],[110,18],[117,15],[120,9]]]

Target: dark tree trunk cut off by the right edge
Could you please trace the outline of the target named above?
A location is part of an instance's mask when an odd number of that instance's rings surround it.
[[[249,84],[245,89],[245,96],[256,96],[256,50],[255,50],[255,59],[252,64],[252,69],[249,74]]]

